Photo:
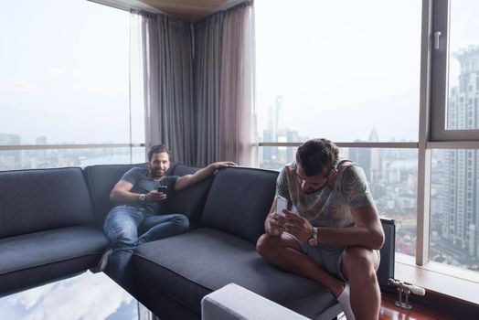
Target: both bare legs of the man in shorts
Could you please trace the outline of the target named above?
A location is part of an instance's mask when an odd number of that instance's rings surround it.
[[[297,240],[282,233],[280,237],[263,234],[256,244],[261,256],[286,272],[308,277],[323,284],[337,298],[345,289],[345,283],[325,272],[309,256],[303,253]],[[349,279],[351,307],[357,320],[378,319],[380,293],[375,269],[376,252],[363,247],[346,249],[341,269]]]

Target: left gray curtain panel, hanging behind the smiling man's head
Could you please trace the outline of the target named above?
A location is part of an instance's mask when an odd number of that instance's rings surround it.
[[[171,16],[141,15],[146,149],[154,144],[166,144],[173,160],[194,164],[191,26]]]

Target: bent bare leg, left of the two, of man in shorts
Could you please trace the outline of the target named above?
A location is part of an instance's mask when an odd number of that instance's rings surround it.
[[[323,284],[335,298],[343,292],[345,283],[318,267],[301,251],[298,242],[288,234],[283,233],[280,237],[263,234],[256,243],[256,250],[266,261],[278,268]]]

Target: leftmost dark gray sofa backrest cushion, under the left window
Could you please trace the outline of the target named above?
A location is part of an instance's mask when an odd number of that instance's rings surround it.
[[[92,221],[80,167],[0,172],[0,238]]]

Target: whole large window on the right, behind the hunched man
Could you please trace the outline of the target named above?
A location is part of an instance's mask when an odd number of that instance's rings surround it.
[[[336,3],[255,3],[261,166],[330,138],[398,221],[399,253],[478,271],[479,4]]]

